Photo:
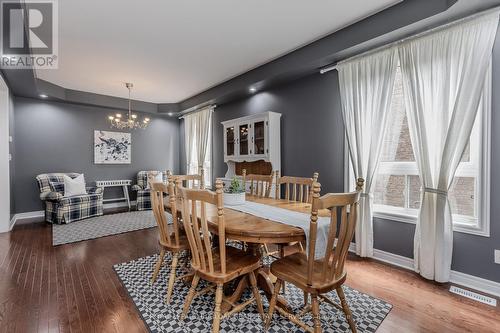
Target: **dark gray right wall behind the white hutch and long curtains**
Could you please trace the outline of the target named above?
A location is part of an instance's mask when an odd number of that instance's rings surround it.
[[[452,269],[500,282],[500,265],[494,263],[494,249],[500,249],[500,32],[493,58],[493,110],[491,156],[491,237],[454,233]],[[343,191],[344,128],[342,124],[337,72],[313,74],[288,85],[249,98],[219,105],[214,113],[214,176],[226,172],[223,161],[221,121],[264,111],[282,114],[281,158],[286,175],[320,173],[322,193]],[[182,124],[181,124],[182,132]],[[183,146],[181,150],[183,150]],[[184,165],[182,160],[181,165]],[[375,219],[376,249],[413,257],[415,226]]]

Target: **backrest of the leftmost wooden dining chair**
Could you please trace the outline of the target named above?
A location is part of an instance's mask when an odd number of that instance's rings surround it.
[[[172,224],[168,224],[167,215],[165,214],[165,206],[163,198],[165,194],[169,195],[170,207],[172,211]],[[160,233],[160,240],[162,243],[169,246],[179,245],[179,223],[177,219],[177,209],[174,184],[170,182],[168,185],[163,183],[151,183],[151,208],[155,216],[158,231]]]

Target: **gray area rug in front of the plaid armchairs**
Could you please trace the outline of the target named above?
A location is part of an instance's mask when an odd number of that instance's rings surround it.
[[[171,219],[171,215],[167,217]],[[52,225],[52,245],[74,243],[155,226],[152,211],[103,215],[69,224],[54,224]]]

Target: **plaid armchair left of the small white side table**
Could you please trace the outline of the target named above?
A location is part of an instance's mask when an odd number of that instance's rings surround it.
[[[45,203],[45,221],[63,224],[102,215],[102,188],[87,187],[86,195],[65,198],[63,175],[75,178],[79,174],[46,173],[36,176],[40,199]]]

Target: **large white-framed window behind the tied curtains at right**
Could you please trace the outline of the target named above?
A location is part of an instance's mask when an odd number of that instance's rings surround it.
[[[485,92],[490,88],[486,87]],[[489,94],[485,93],[485,96],[487,101]],[[373,185],[374,216],[414,222],[420,208],[422,186],[410,139],[399,67],[392,97],[387,132]],[[481,103],[469,143],[448,193],[454,229],[485,236],[489,236],[490,112],[490,103]],[[352,172],[352,167],[349,171]],[[353,189],[355,186],[351,178],[354,177],[349,178],[349,186]]]

